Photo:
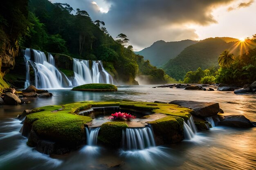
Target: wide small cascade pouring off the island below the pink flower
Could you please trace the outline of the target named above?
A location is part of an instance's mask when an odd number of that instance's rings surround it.
[[[123,130],[123,148],[128,150],[142,150],[155,146],[155,139],[150,127],[126,128]]]

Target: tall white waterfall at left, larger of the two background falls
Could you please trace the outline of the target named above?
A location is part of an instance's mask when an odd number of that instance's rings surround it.
[[[30,84],[29,65],[34,70],[36,88],[61,88],[71,86],[70,81],[65,74],[58,70],[54,65],[54,58],[51,54],[46,59],[45,53],[31,49],[34,55],[34,61],[31,60],[30,49],[25,50],[26,60],[26,82],[25,88]]]

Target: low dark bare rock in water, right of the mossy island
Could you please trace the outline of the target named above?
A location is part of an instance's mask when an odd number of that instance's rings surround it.
[[[220,126],[231,126],[236,128],[251,128],[253,124],[244,115],[228,115],[220,116]]]

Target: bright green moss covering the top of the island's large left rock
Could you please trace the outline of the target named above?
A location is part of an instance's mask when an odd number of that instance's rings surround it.
[[[27,115],[25,124],[31,125],[36,134],[43,139],[77,145],[85,140],[85,123],[92,121],[92,118],[73,114],[75,110],[88,106],[90,104],[73,103],[33,109],[35,113]]]

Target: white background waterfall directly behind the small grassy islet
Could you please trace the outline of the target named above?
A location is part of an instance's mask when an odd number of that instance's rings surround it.
[[[113,78],[105,71],[101,61],[92,61],[92,68],[88,60],[73,60],[74,79],[73,86],[89,83],[113,84]]]

